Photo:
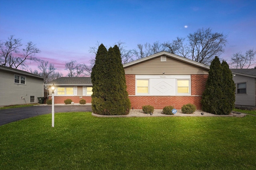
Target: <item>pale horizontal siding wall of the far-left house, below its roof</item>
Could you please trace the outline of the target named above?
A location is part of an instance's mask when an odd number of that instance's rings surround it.
[[[25,85],[14,84],[14,73],[0,70],[0,106],[28,104],[30,96],[35,96],[35,103],[38,103],[38,97],[44,97],[44,80],[42,78],[26,76]]]

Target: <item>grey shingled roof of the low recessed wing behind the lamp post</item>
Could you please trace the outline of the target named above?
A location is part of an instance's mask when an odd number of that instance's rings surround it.
[[[60,77],[45,85],[51,86],[53,83],[55,86],[92,86],[90,77]]]

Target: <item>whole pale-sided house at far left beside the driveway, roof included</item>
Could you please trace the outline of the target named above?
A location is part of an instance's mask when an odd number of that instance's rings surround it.
[[[0,65],[0,106],[38,103],[43,96],[43,77]]]

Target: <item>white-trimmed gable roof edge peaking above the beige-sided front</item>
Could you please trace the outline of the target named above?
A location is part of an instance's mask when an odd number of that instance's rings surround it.
[[[162,51],[162,52],[160,52],[160,53],[156,53],[156,54],[154,54],[154,55],[150,55],[150,56],[148,56],[148,57],[144,57],[144,58],[142,58],[142,59],[138,59],[138,60],[136,60],[136,61],[132,61],[132,62],[130,62],[130,63],[126,63],[126,64],[124,64],[123,66],[124,66],[124,68],[125,68],[125,67],[128,67],[128,66],[132,66],[132,65],[134,65],[134,64],[142,63],[142,62],[147,61],[147,60],[150,60],[150,59],[154,59],[154,58],[159,57],[159,56],[168,56],[168,57],[170,57],[170,58],[173,58],[173,59],[176,59],[176,60],[179,60],[179,61],[183,61],[183,62],[185,62],[185,63],[192,64],[192,65],[194,65],[194,66],[198,66],[198,67],[201,67],[201,68],[205,68],[205,69],[207,69],[207,70],[210,70],[210,66],[208,66],[208,65],[206,65],[206,64],[198,63],[198,62],[196,62],[196,61],[192,61],[192,60],[190,60],[190,59],[186,59],[186,58],[184,58],[184,57],[181,57],[181,56],[178,56],[178,55],[169,53],[169,52],[167,52],[167,51]]]

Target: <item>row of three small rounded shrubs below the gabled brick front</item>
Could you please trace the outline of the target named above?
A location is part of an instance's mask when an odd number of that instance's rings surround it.
[[[163,108],[162,113],[166,115],[173,115],[172,109],[174,109],[173,106],[165,106]],[[143,113],[152,114],[154,112],[154,107],[150,105],[142,106]],[[181,107],[182,113],[186,114],[192,114],[196,111],[196,106],[194,104],[185,104]]]

